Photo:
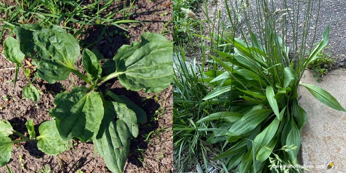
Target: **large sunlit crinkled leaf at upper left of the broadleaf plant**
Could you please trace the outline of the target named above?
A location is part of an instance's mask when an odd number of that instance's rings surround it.
[[[80,51],[78,40],[70,33],[66,33],[63,28],[56,25],[43,28],[35,24],[24,24],[21,27],[34,31],[33,39],[39,51],[43,51],[53,60],[62,62],[73,69],[73,64],[77,61]]]

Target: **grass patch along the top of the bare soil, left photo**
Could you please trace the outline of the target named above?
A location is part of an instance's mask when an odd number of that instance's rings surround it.
[[[103,0],[96,0],[87,4],[83,0],[14,0],[13,4],[7,4],[7,1],[0,2],[0,14],[4,16],[0,20],[4,23],[0,26],[0,40],[6,30],[10,30],[12,34],[15,27],[26,23],[38,23],[43,27],[59,25],[69,33],[73,33],[75,38],[79,38],[83,34],[83,29],[90,25],[102,25],[104,28],[113,25],[127,31],[120,24],[138,22],[128,20],[135,13],[130,10],[137,8],[134,6],[135,1],[124,3],[122,9],[114,8],[109,11],[113,2],[116,0],[109,0],[106,3]],[[121,17],[115,18],[117,15]]]

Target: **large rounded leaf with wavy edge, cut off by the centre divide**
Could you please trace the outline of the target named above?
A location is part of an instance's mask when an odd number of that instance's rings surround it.
[[[149,32],[144,33],[141,40],[118,49],[113,58],[116,73],[120,73],[118,79],[126,89],[160,92],[173,81],[173,42]]]

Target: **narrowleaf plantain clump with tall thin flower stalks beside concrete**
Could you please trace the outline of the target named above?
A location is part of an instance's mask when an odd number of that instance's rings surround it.
[[[311,46],[309,54],[305,55],[309,29],[313,25],[313,1],[308,1],[307,4],[304,4],[305,1],[297,1],[298,5],[295,5],[298,9],[293,8],[292,13],[286,0],[283,2],[282,10],[269,7],[267,3],[273,5],[273,1],[255,2],[257,6],[253,9],[246,9],[250,6],[249,1],[240,7],[244,8],[245,25],[249,33],[246,36],[242,29],[245,26],[238,22],[233,23],[236,20],[232,20],[231,16],[239,16],[236,6],[228,6],[228,1],[225,1],[233,29],[239,28],[238,31],[244,40],[236,38],[235,34],[222,35],[222,39],[228,40],[226,44],[216,43],[210,46],[210,62],[222,68],[204,73],[208,78],[202,81],[212,90],[203,100],[220,111],[199,119],[195,126],[201,127],[203,125],[200,124],[207,125],[210,121],[218,124],[217,128],[213,126],[197,129],[212,131],[207,139],[209,143],[224,142],[223,148],[226,148],[226,151],[222,151],[214,159],[224,161],[228,171],[235,169],[233,171],[239,173],[302,172],[299,167],[291,170],[273,168],[273,165],[299,165],[297,156],[301,145],[300,131],[308,119],[306,111],[298,104],[299,85],[307,88],[317,100],[327,106],[345,111],[327,91],[300,82],[307,65],[313,62],[317,58],[316,55],[327,45],[329,25],[319,44],[314,49]],[[303,34],[299,36],[299,8],[303,6],[306,8],[304,22],[300,28]],[[253,28],[249,18],[257,21],[258,26]],[[282,39],[288,39],[287,30],[290,25],[293,30],[291,51],[286,46],[287,40]],[[276,27],[282,30],[276,31]],[[234,46],[232,52],[223,51],[223,47],[227,45]]]

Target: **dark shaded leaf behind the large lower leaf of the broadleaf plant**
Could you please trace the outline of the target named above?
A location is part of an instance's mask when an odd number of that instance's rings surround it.
[[[136,103],[134,103],[133,101],[128,99],[126,96],[117,95],[108,89],[106,89],[105,95],[112,98],[113,101],[115,101],[115,102],[126,104],[126,107],[133,110],[136,113],[138,124],[143,124],[143,123],[147,122],[147,115],[144,112],[144,110],[142,108],[140,108],[139,106],[137,106]]]

